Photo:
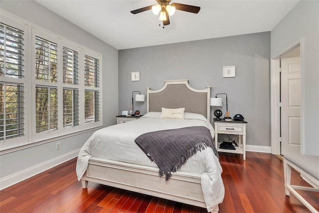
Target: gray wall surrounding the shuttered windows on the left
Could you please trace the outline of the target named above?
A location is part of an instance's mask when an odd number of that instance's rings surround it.
[[[118,113],[118,50],[32,0],[1,0],[0,7],[25,20],[102,53],[103,126],[115,124],[115,117],[109,115]],[[60,140],[60,150],[55,150],[57,141],[54,141],[1,155],[0,179],[80,149],[90,135],[92,135],[92,132]]]

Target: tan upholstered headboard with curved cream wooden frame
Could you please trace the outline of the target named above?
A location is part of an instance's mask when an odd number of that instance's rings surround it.
[[[159,90],[147,88],[147,112],[161,112],[161,108],[182,108],[210,120],[210,86],[194,89],[188,80],[166,80]]]

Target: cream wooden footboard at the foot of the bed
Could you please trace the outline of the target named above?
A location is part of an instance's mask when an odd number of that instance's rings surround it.
[[[154,167],[92,157],[81,179],[82,187],[85,189],[90,181],[206,208],[200,174],[179,171],[165,181],[164,177],[159,177],[158,170]],[[218,206],[214,211],[218,212]]]

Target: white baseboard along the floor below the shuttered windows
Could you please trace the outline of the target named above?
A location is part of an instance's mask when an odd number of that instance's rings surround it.
[[[61,155],[57,158],[51,159],[51,160],[46,161],[44,163],[38,164],[36,166],[22,170],[20,172],[17,172],[15,174],[10,175],[10,176],[4,177],[4,178],[0,179],[0,190],[8,188],[14,184],[17,184],[21,181],[24,181],[28,178],[31,178],[37,174],[40,174],[41,172],[44,172],[48,169],[51,169],[55,166],[58,166],[58,165],[66,162],[66,161],[69,161],[73,158],[76,158],[78,156],[79,152],[80,152],[80,149],[77,149],[77,150],[69,152],[65,155]]]

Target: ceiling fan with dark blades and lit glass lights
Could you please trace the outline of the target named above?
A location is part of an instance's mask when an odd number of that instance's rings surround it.
[[[156,0],[158,2],[157,5],[150,5],[146,7],[142,7],[139,9],[132,10],[133,14],[137,14],[140,12],[144,12],[152,9],[153,13],[158,15],[160,13],[160,20],[163,21],[163,25],[169,24],[169,16],[173,15],[175,10],[182,10],[186,12],[198,13],[200,10],[199,6],[192,6],[188,4],[182,3],[171,3],[170,0]]]

